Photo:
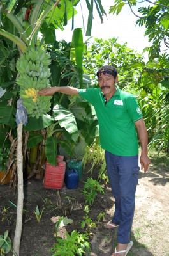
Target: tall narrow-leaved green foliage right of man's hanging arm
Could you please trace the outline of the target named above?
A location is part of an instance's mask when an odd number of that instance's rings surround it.
[[[168,107],[166,90],[156,88],[151,94],[140,101],[143,116],[147,124],[149,134],[149,148],[156,148],[158,152],[168,150],[169,129],[168,129]]]

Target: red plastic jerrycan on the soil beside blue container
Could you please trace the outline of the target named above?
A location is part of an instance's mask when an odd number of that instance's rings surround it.
[[[57,166],[50,165],[48,162],[45,166],[45,177],[43,187],[47,189],[62,189],[66,170],[66,162],[58,161]]]

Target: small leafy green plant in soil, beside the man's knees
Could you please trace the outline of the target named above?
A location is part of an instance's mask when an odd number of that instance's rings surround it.
[[[82,193],[85,195],[85,204],[89,203],[89,205],[91,205],[96,195],[98,195],[98,193],[105,194],[105,191],[101,188],[101,184],[98,180],[88,178],[87,181],[84,181],[84,190],[82,190]]]

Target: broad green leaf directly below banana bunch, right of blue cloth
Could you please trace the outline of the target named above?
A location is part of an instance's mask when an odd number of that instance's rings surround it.
[[[50,115],[40,116],[39,119],[29,116],[27,125],[23,127],[24,131],[38,131],[47,128],[54,122]]]

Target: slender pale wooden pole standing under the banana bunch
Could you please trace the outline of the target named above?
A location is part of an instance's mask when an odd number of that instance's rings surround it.
[[[18,200],[17,200],[17,222],[15,237],[13,241],[13,256],[19,256],[20,239],[22,235],[22,214],[24,205],[24,185],[23,185],[23,153],[22,153],[22,122],[18,124],[18,143],[17,143],[17,176],[18,176]]]

